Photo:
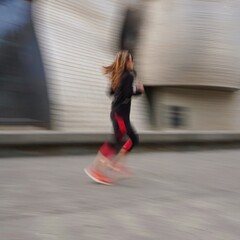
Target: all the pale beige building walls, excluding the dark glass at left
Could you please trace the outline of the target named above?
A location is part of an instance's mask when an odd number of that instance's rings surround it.
[[[47,74],[52,128],[110,131],[107,80],[127,1],[38,0],[33,17]],[[142,1],[135,54],[144,130],[239,130],[237,1]],[[238,20],[238,21],[237,21]]]

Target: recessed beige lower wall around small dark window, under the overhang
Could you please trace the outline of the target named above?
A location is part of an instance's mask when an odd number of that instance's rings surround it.
[[[181,88],[159,90],[155,97],[157,127],[174,130],[169,124],[165,107],[179,106],[187,110],[186,126],[180,130],[237,130],[240,127],[239,123],[235,123],[237,112],[234,106],[239,105],[235,100],[237,96],[239,92]]]

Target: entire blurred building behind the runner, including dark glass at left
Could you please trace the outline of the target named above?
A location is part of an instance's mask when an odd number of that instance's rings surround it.
[[[101,67],[129,49],[139,131],[237,131],[239,20],[234,0],[1,0],[0,129],[110,132]]]

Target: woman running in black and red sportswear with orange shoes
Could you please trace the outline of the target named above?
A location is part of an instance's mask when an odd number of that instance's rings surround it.
[[[110,94],[113,95],[110,117],[114,139],[101,146],[94,165],[85,169],[85,172],[97,182],[111,184],[113,180],[104,170],[109,167],[116,170],[119,160],[139,142],[130,122],[131,98],[142,94],[144,87],[142,84],[133,85],[136,71],[133,57],[126,50],[118,52],[113,64],[103,67],[103,71],[110,77]]]

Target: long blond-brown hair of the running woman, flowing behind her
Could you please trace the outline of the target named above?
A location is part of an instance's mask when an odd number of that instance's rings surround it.
[[[131,54],[127,50],[119,51],[110,66],[103,67],[103,73],[109,74],[112,90],[119,86],[121,75],[126,70],[126,64]]]

